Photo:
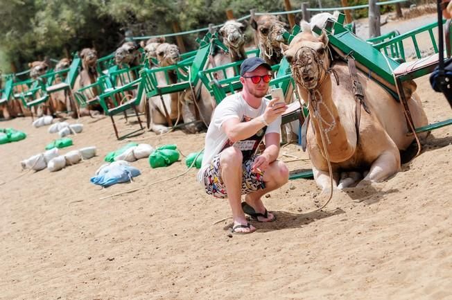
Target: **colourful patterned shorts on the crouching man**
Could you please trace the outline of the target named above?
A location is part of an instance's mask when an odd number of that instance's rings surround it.
[[[221,154],[221,153],[220,153]],[[217,198],[227,198],[227,191],[223,180],[221,179],[220,154],[212,159],[210,166],[208,166],[203,173],[205,191],[209,195]],[[242,164],[242,195],[259,190],[259,188],[266,188],[263,182],[263,172],[251,172],[254,159],[243,161]]]

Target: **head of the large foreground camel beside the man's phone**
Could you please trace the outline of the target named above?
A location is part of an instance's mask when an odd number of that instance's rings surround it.
[[[305,26],[289,46],[281,45],[297,85],[306,89],[320,87],[330,64],[327,45],[326,33],[315,37],[309,26]]]

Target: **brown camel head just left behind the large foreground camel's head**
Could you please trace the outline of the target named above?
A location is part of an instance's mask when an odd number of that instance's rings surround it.
[[[250,24],[256,31],[258,46],[261,49],[261,58],[270,65],[279,64],[283,55],[281,43],[284,42],[283,33],[288,25],[274,15],[261,15],[254,17]]]

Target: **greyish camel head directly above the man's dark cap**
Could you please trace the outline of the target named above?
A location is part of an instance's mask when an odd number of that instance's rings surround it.
[[[246,25],[236,20],[229,20],[218,30],[223,37],[223,44],[229,48],[231,58],[245,59],[245,32]]]

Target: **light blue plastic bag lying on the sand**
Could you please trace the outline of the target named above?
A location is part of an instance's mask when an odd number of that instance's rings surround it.
[[[140,175],[140,171],[132,166],[110,165],[102,168],[98,175],[89,179],[93,184],[107,187],[121,182],[130,182],[132,177]]]

